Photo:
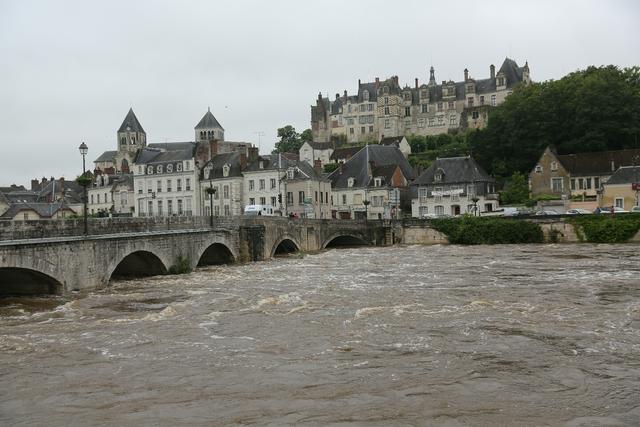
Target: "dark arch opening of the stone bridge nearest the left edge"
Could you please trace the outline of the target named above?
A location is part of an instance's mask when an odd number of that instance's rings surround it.
[[[22,267],[0,268],[0,296],[61,294],[64,285],[38,270]]]

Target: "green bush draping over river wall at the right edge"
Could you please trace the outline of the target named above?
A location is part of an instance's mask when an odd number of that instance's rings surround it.
[[[640,215],[586,215],[569,220],[590,243],[625,243],[640,230]]]

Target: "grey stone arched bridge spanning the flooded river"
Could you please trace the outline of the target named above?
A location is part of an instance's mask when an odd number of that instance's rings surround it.
[[[128,218],[0,224],[0,294],[64,293],[112,278],[261,261],[331,246],[393,244],[394,226],[273,217]]]

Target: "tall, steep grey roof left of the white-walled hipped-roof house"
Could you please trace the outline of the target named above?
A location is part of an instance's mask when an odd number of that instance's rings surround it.
[[[354,188],[370,186],[372,170],[381,166],[397,165],[407,180],[413,178],[411,165],[402,152],[394,146],[367,145],[329,175],[333,188],[349,188],[349,177],[355,178]],[[395,169],[394,169],[395,170]]]

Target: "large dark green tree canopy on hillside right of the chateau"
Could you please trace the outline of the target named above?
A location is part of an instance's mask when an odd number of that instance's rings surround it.
[[[547,146],[560,154],[636,147],[639,123],[640,67],[589,67],[516,87],[469,143],[500,179],[528,174]]]

